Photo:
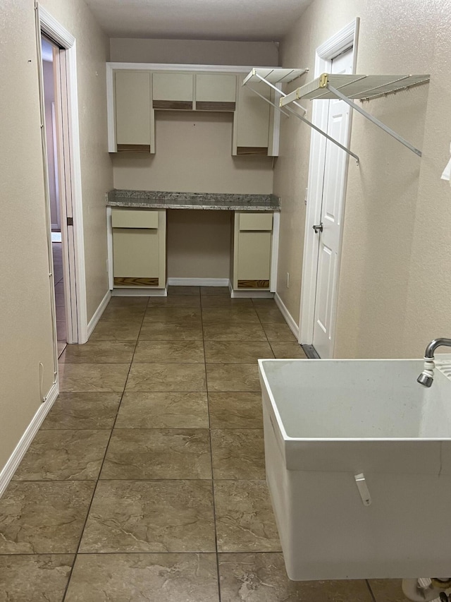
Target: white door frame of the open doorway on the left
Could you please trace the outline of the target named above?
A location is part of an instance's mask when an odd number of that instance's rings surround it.
[[[80,128],[78,119],[78,88],[77,88],[77,53],[76,40],[66,28],[58,23],[51,14],[37,2],[35,3],[37,23],[37,52],[40,73],[41,102],[44,99],[42,88],[42,56],[41,33],[53,40],[62,50],[59,55],[62,71],[65,77],[61,81],[63,102],[63,140],[66,152],[63,153],[63,164],[60,164],[60,180],[64,179],[66,195],[61,195],[61,240],[63,243],[63,270],[64,293],[66,303],[66,324],[68,343],[87,342],[87,304],[86,304],[86,279],[85,279],[85,243],[83,234],[82,210],[82,176],[80,161]],[[61,151],[58,159],[61,157]],[[48,173],[47,158],[44,157],[44,174],[48,198]],[[64,176],[64,177],[63,177]],[[63,188],[63,181],[60,181]],[[61,192],[60,188],[60,192]],[[73,226],[68,227],[68,217],[73,218]],[[49,227],[49,240],[51,240],[51,226]],[[53,265],[51,244],[49,246],[49,265]],[[53,270],[51,270],[53,271]],[[52,291],[52,297],[54,291]],[[56,320],[56,315],[54,315]],[[56,323],[55,323],[56,327]],[[56,345],[56,342],[55,342]]]

